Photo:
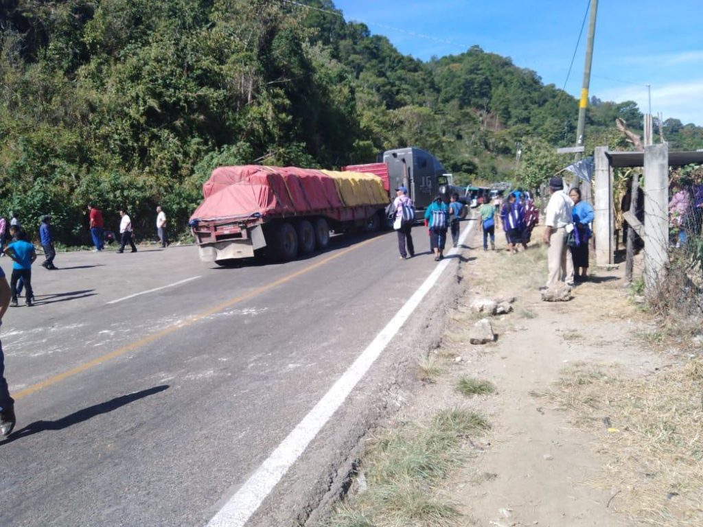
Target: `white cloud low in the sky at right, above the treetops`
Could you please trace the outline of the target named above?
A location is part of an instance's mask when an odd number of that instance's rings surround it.
[[[647,112],[647,88],[626,86],[600,90],[593,95],[602,100],[621,103],[634,100],[642,112]],[[664,119],[674,117],[684,124],[694,123],[703,126],[703,79],[687,82],[671,82],[662,86],[652,86],[652,113],[662,112]]]

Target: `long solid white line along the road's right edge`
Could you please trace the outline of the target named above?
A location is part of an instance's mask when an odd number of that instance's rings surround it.
[[[470,223],[461,233],[460,244],[463,244],[473,225],[473,222]],[[451,249],[448,254],[457,254],[458,252],[459,249]],[[415,311],[415,308],[420,305],[425,295],[437,283],[439,276],[448,265],[449,259],[444,259],[437,264],[437,267],[423,282],[423,285],[420,285],[417,291],[413,293],[413,296],[400,308],[400,311],[376,335],[375,339],[354,360],[354,363],[349,366],[347,371],[342,374],[342,377],[337,379],[337,382],[333,384],[315,407],[278,445],[276,450],[273,450],[273,453],[247,479],[235,495],[219,509],[217,514],[207,523],[207,527],[244,527],[245,523],[262,505],[266,496],[271,493],[271,490],[283,478],[288,469],[302,455],[310,441],[315,438],[318,432],[327,424],[330,417],[344,403],[354,386],[366,375],[371,365],[380,356],[413,311]]]

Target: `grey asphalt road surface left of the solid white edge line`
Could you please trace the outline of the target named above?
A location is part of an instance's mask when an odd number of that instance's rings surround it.
[[[394,246],[344,235],[280,265],[169,247],[37,266],[36,306],[3,325],[19,421],[0,444],[0,525],[205,525],[437,265]],[[323,435],[310,462],[342,448]],[[255,520],[295,518],[276,505]]]

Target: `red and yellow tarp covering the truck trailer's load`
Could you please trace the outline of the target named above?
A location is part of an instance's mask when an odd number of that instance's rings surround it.
[[[205,200],[191,221],[314,214],[384,205],[389,200],[374,174],[258,165],[214,169],[202,186],[202,195]]]

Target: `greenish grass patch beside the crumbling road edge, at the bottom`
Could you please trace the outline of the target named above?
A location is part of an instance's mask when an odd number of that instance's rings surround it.
[[[465,460],[467,438],[489,429],[463,409],[438,412],[427,424],[405,423],[375,438],[363,460],[368,488],[347,497],[328,527],[449,527],[459,513],[437,490]]]

